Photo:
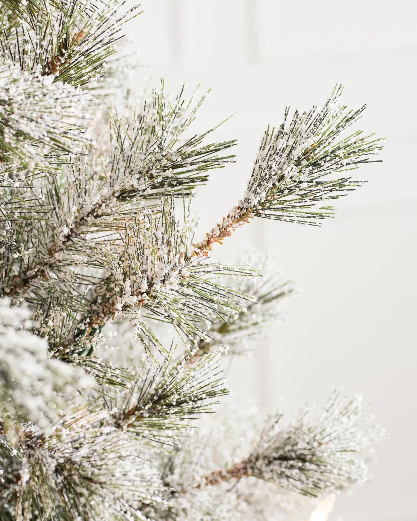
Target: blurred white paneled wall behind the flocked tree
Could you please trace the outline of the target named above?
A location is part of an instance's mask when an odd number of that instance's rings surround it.
[[[143,0],[128,29],[147,68],[133,91],[166,80],[176,94],[212,88],[194,130],[236,113],[216,140],[238,139],[237,163],[214,171],[194,209],[204,235],[244,191],[262,133],[284,108],[323,105],[336,82],[343,101],[368,103],[366,132],[386,137],[384,163],[357,174],[369,182],[336,201],[322,228],[255,219],[216,257],[242,246],[276,255],[277,270],[302,282],[259,356],[236,361],[231,387],[262,407],[323,404],[332,386],[360,392],[390,433],[373,479],[338,499],[330,520],[417,519],[416,230],[417,4],[411,0]],[[284,402],[281,402],[281,397]]]

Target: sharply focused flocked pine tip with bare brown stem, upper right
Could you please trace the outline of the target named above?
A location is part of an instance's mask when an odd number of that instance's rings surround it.
[[[361,184],[350,177],[327,177],[377,161],[372,156],[383,148],[374,134],[363,137],[356,131],[341,136],[365,109],[339,106],[341,92],[342,86],[336,86],[322,110],[313,107],[302,114],[296,110],[289,123],[287,108],[278,130],[268,127],[242,201],[195,245],[195,254],[212,250],[253,217],[320,226],[334,213],[333,206],[322,202],[338,199]]]

